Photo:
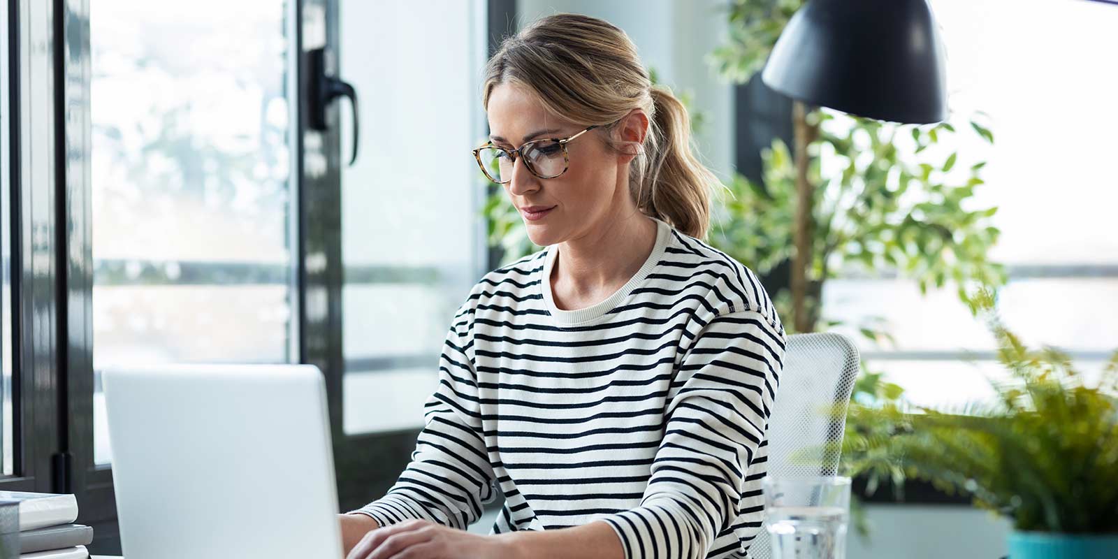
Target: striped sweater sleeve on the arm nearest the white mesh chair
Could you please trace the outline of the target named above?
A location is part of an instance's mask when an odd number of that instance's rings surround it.
[[[672,382],[641,505],[600,519],[626,558],[703,558],[731,528],[768,427],[785,341],[756,311],[716,316],[700,330]]]

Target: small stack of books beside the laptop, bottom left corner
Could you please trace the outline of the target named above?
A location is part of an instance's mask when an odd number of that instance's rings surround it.
[[[77,520],[77,499],[0,491],[0,558],[87,559],[93,529]]]

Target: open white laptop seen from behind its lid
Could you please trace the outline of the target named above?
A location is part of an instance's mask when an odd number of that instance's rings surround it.
[[[125,559],[342,557],[316,367],[114,368],[102,385]]]

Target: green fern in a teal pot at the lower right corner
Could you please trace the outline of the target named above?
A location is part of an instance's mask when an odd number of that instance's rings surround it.
[[[954,410],[852,407],[856,423],[892,428],[847,436],[844,458],[901,468],[1008,518],[1012,559],[1118,557],[1118,351],[1089,382],[1065,353],[1030,349],[1010,332],[993,292],[972,305],[1010,372],[992,380],[996,398]]]

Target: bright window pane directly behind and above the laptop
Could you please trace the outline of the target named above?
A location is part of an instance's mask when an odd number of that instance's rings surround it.
[[[94,369],[297,360],[291,6],[96,2]],[[100,383],[95,462],[111,461]]]

